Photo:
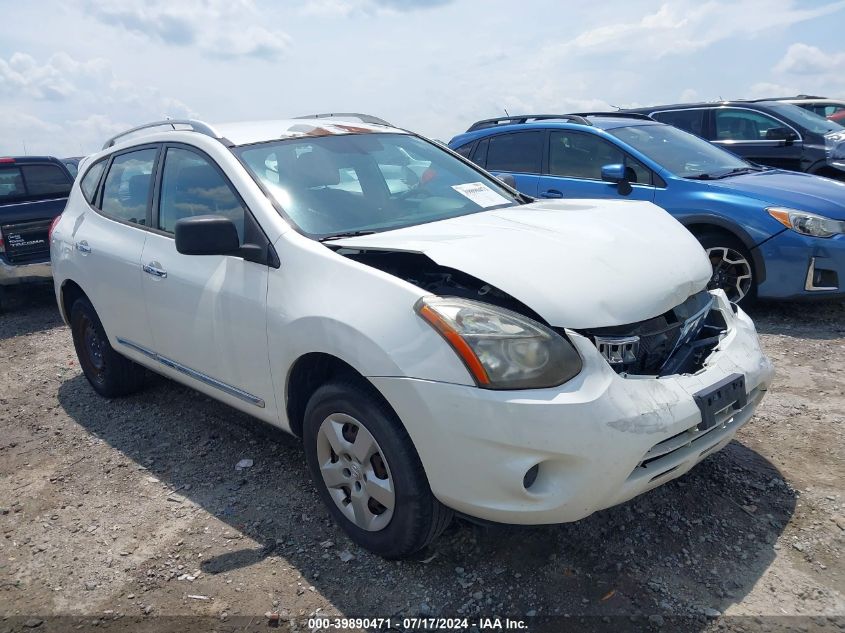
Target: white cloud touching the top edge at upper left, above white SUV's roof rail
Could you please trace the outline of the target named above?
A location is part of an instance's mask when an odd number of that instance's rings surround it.
[[[290,43],[286,33],[260,23],[262,16],[252,0],[98,0],[89,2],[88,11],[141,38],[196,47],[222,59],[272,61]]]

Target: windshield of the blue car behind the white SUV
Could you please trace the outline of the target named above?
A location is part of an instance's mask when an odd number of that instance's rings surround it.
[[[636,125],[607,131],[682,178],[715,178],[755,169],[730,152],[671,125]]]

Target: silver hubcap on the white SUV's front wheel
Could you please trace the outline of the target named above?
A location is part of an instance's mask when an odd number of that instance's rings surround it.
[[[368,532],[387,527],[396,505],[393,478],[363,424],[344,413],[328,416],[317,431],[317,459],[323,482],[347,519]]]

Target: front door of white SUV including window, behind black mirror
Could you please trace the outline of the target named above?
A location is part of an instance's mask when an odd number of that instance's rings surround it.
[[[152,349],[166,367],[215,397],[275,410],[268,267],[228,255],[183,255],[174,239],[176,222],[198,215],[230,218],[241,244],[254,241],[258,225],[220,167],[196,148],[166,146],[156,191],[157,213],[141,258]]]

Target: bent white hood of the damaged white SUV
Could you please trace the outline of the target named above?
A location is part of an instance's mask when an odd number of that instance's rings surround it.
[[[550,325],[596,328],[670,310],[710,280],[710,262],[650,202],[554,200],[332,241],[422,253],[507,292]]]

